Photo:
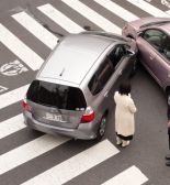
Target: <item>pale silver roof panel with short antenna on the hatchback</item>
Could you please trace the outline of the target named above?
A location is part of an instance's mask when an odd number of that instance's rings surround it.
[[[113,42],[113,39],[101,35],[70,34],[55,48],[37,78],[78,85]]]

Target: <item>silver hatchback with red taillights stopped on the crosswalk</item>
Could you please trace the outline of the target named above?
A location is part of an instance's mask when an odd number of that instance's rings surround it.
[[[134,73],[135,54],[135,42],[121,35],[89,31],[64,37],[22,101],[25,124],[75,139],[101,139],[113,92]]]

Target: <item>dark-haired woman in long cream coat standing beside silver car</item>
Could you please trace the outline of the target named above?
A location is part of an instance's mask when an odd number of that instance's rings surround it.
[[[135,132],[136,106],[131,98],[131,84],[125,81],[121,84],[118,91],[114,94],[115,107],[115,132],[116,144],[126,146],[133,139]]]

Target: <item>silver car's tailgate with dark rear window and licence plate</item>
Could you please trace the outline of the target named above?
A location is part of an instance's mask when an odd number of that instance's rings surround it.
[[[26,98],[35,120],[60,128],[77,128],[87,108],[79,88],[42,80],[32,83]]]

